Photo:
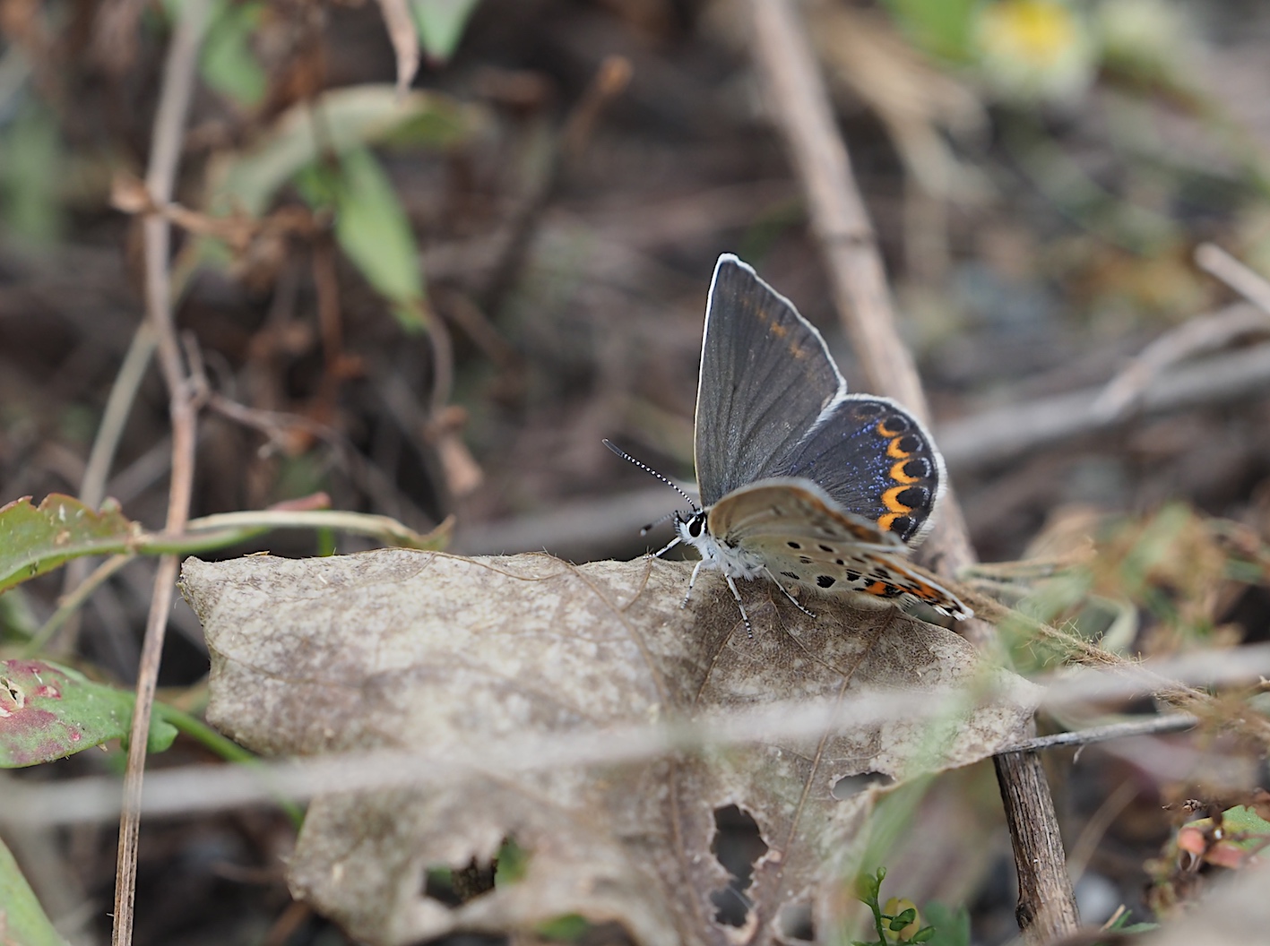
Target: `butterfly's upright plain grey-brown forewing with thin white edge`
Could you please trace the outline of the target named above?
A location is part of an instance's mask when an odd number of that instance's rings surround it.
[[[820,333],[735,256],[719,258],[697,385],[701,502],[777,471],[846,390]]]

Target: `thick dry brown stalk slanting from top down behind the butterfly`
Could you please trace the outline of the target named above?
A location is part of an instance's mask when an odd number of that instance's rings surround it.
[[[926,418],[926,395],[895,329],[881,255],[812,44],[789,0],[749,0],[749,9],[753,56],[771,114],[806,192],[812,229],[826,258],[837,309],[870,389]],[[936,568],[945,574],[975,560],[951,494],[931,545]],[[975,644],[996,645],[989,625],[966,625],[966,636]],[[1006,753],[997,756],[996,763],[1019,870],[1019,926],[1030,942],[1068,936],[1080,919],[1040,757],[1035,752]]]

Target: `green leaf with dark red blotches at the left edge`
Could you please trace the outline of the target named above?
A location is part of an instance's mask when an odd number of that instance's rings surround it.
[[[93,683],[47,660],[0,662],[0,767],[22,768],[74,756],[132,726],[133,695]],[[150,752],[163,752],[177,729],[157,716]]]

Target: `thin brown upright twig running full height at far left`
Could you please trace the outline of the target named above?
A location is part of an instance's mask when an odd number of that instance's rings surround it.
[[[171,199],[180,159],[185,117],[194,90],[194,67],[203,29],[207,24],[207,0],[189,0],[180,8],[180,19],[173,33],[164,62],[159,108],[155,114],[150,169],[146,187],[155,204]],[[171,282],[168,256],[171,229],[166,220],[149,216],[142,221],[146,270],[146,317],[159,339],[159,364],[168,383],[169,413],[173,424],[171,485],[168,495],[168,531],[182,532],[189,518],[194,479],[194,409],[185,383],[180,345],[171,317]],[[146,634],[137,668],[137,698],[132,712],[128,763],[123,780],[123,810],[119,818],[119,849],[116,865],[114,924],[110,941],[114,946],[132,942],[133,908],[137,884],[137,841],[141,827],[141,786],[146,763],[146,742],[154,710],[155,686],[163,655],[164,631],[177,582],[179,561],[175,555],[160,560],[155,575]]]

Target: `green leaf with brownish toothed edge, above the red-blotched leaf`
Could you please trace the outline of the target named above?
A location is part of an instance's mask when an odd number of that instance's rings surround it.
[[[112,507],[93,512],[75,496],[50,493],[0,507],[0,592],[81,555],[128,550],[138,528]]]

